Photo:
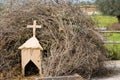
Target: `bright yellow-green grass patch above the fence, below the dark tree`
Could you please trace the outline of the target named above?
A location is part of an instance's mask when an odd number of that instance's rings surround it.
[[[95,21],[97,27],[106,27],[117,22],[116,17],[104,15],[93,15],[92,19]]]

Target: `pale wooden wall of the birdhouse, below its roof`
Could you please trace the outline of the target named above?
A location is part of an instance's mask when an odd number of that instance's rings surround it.
[[[23,69],[30,60],[38,67],[38,69],[41,69],[40,49],[23,49],[21,52],[21,60]]]

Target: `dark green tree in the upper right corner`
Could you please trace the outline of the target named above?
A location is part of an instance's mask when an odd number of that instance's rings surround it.
[[[120,0],[96,0],[96,4],[103,14],[116,16],[120,23]]]

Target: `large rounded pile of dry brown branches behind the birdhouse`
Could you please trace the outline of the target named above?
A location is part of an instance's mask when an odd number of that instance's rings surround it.
[[[26,5],[1,16],[0,20],[0,72],[3,77],[20,74],[18,47],[32,37],[32,30],[26,26],[33,20],[43,26],[37,30],[37,38],[44,48],[42,67],[46,76],[78,73],[90,77],[106,60],[107,52],[93,29],[93,21],[77,6]]]

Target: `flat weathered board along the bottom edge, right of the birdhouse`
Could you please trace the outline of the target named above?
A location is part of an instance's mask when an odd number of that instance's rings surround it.
[[[81,76],[59,76],[59,77],[37,78],[35,80],[84,80],[84,79]]]

